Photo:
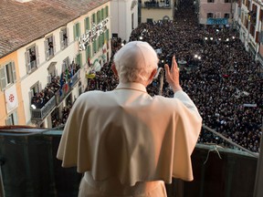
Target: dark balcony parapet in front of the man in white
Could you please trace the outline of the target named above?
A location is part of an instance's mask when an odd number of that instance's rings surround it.
[[[0,130],[3,196],[78,196],[81,174],[75,167],[61,168],[61,161],[56,159],[61,134],[62,130]],[[257,192],[259,160],[245,151],[197,144],[192,154],[194,181],[174,179],[166,185],[167,195],[252,197]],[[259,181],[258,185],[255,197],[263,192]]]

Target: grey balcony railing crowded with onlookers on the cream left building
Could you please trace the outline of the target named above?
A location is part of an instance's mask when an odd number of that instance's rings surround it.
[[[56,98],[53,96],[41,109],[31,109],[31,119],[44,119],[47,114],[56,106]]]

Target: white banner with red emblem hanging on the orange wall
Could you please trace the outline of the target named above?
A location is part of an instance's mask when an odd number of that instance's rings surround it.
[[[16,94],[16,85],[13,85],[12,87],[5,89],[5,103],[6,103],[7,113],[17,108],[18,99]]]

